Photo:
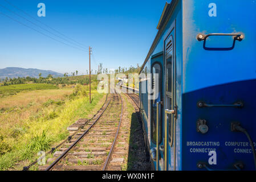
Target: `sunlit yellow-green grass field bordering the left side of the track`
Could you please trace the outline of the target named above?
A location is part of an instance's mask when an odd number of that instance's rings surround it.
[[[79,118],[90,118],[104,102],[104,94],[96,90],[92,90],[91,105],[88,96],[70,99],[67,96],[72,89],[59,90],[34,90],[0,98],[5,102],[0,104],[0,170],[21,169],[21,165],[36,159],[37,152],[47,151],[66,138],[68,126]]]

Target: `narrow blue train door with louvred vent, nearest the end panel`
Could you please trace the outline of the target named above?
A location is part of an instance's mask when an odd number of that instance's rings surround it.
[[[164,39],[164,170],[176,170],[175,22]]]

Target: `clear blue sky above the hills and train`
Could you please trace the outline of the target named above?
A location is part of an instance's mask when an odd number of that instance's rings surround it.
[[[86,49],[91,46],[94,53],[91,64],[94,70],[97,68],[96,63],[103,63],[103,67],[108,69],[116,69],[119,66],[136,66],[137,63],[141,65],[156,36],[156,26],[166,2],[166,0],[7,1],[68,38],[82,43]],[[46,17],[37,15],[37,5],[40,2],[46,5]],[[1,0],[0,5],[59,35],[15,9],[5,0]],[[75,46],[36,27],[2,6],[0,6],[0,13],[52,38]],[[86,73],[89,60],[88,51],[81,51],[55,42],[2,14],[0,14],[0,23],[0,68],[38,68],[60,73],[71,73],[78,70],[80,74]]]

